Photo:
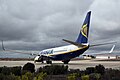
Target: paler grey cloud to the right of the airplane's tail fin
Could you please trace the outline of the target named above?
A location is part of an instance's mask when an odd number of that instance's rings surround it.
[[[90,42],[104,43],[116,41],[116,50],[120,49],[120,1],[96,0],[90,6],[92,10]],[[99,42],[97,42],[99,41]],[[111,45],[94,48],[94,51],[106,51]]]

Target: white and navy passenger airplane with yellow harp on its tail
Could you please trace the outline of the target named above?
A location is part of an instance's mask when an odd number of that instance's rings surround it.
[[[82,55],[87,49],[89,49],[89,47],[113,43],[113,42],[110,42],[110,43],[95,44],[95,45],[90,45],[88,43],[90,16],[91,16],[91,11],[87,13],[76,41],[63,39],[63,41],[70,43],[71,45],[42,50],[39,52],[39,55],[37,55],[34,58],[34,62],[43,63],[44,61],[46,61],[47,64],[52,64],[52,61],[55,60],[55,61],[62,61],[64,64],[68,64],[71,59],[78,57],[79,55]],[[4,48],[3,41],[2,41],[2,48],[4,51],[17,52],[13,50],[6,50]],[[21,52],[18,52],[18,53],[21,53]]]

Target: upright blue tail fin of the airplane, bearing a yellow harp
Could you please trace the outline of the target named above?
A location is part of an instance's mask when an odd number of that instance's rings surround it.
[[[85,18],[82,28],[80,30],[80,34],[76,40],[77,43],[80,43],[80,44],[88,43],[90,16],[91,16],[91,11],[89,11],[86,15],[86,18]]]

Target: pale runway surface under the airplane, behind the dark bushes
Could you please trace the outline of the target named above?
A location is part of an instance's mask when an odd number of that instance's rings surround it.
[[[26,63],[34,63],[34,61],[0,61],[0,67],[7,66],[7,67],[13,67],[13,66],[23,66]],[[46,65],[46,63],[34,63],[35,68],[43,67]],[[53,61],[53,65],[64,65],[61,61]],[[113,69],[120,69],[120,61],[95,61],[95,60],[76,60],[76,61],[70,61],[68,64],[69,69],[80,69],[84,70],[87,67],[95,67],[96,65],[102,64],[105,66],[105,68],[113,68]]]

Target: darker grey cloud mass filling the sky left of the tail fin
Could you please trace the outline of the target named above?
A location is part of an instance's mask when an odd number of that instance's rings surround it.
[[[61,39],[76,38],[82,15],[92,2],[0,0],[0,39],[12,49],[41,50],[66,44]]]

